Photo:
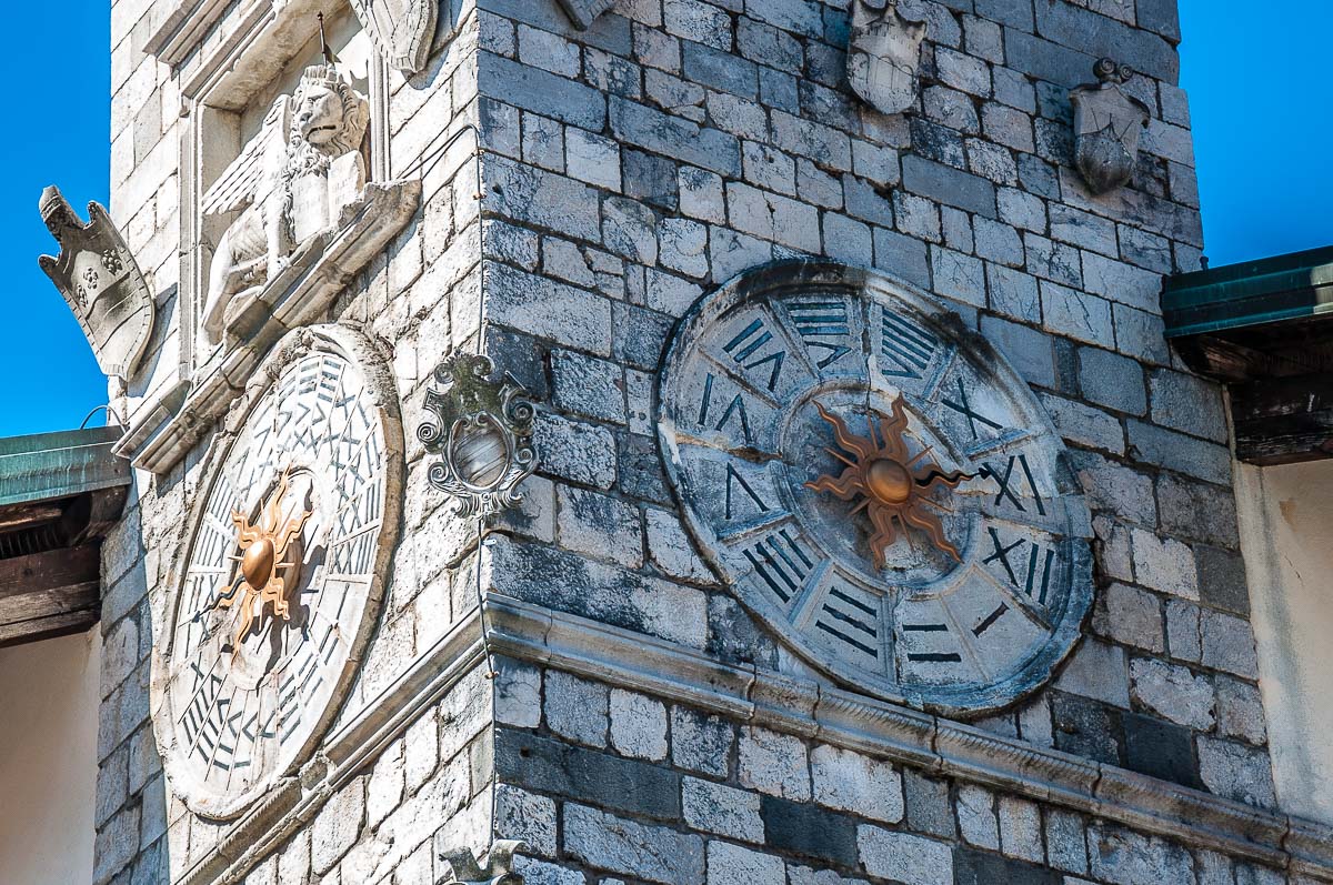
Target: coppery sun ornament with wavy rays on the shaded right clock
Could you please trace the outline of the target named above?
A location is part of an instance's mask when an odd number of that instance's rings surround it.
[[[825,474],[813,482],[806,482],[805,488],[814,492],[829,492],[841,501],[860,498],[848,516],[866,510],[874,529],[869,544],[876,568],[884,568],[885,550],[897,541],[898,529],[894,526],[894,520],[904,532],[908,526],[921,529],[937,548],[961,562],[962,556],[958,549],[944,537],[944,525],[940,522],[940,517],[928,508],[952,510],[926,493],[936,485],[954,488],[958,482],[972,477],[958,472],[945,473],[937,464],[926,458],[930,453],[929,448],[910,454],[904,439],[908,416],[902,397],[893,400],[893,417],[870,412],[866,417],[870,433],[868,439],[852,433],[846,423],[825,409],[821,403],[816,401],[814,407],[820,411],[820,417],[833,427],[833,436],[842,449],[842,452],[830,448],[824,450],[845,464],[846,468],[836,478],[832,474]],[[876,439],[876,424],[878,424],[878,440]]]

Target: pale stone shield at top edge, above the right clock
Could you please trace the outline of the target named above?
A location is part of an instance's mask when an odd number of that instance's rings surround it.
[[[917,96],[925,19],[898,0],[852,0],[846,76],[852,92],[884,113],[902,113]]]

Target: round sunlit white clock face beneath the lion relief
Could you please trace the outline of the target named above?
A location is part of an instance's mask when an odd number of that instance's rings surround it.
[[[401,452],[391,401],[339,348],[292,359],[201,490],[161,642],[173,786],[227,817],[308,754],[381,596]]]

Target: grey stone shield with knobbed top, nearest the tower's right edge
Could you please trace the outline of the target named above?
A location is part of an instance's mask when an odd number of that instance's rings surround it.
[[[1097,83],[1069,93],[1074,105],[1074,165],[1093,193],[1126,184],[1138,163],[1138,139],[1152,112],[1122,85],[1134,76],[1129,65],[1100,59]]]

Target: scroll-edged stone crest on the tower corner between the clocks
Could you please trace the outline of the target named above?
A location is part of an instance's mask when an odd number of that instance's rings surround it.
[[[484,356],[455,355],[435,371],[440,391],[425,408],[435,420],[417,428],[428,452],[431,484],[455,498],[459,516],[492,516],[523,500],[519,484],[537,469],[532,446],[535,411],[513,376],[492,377]]]

